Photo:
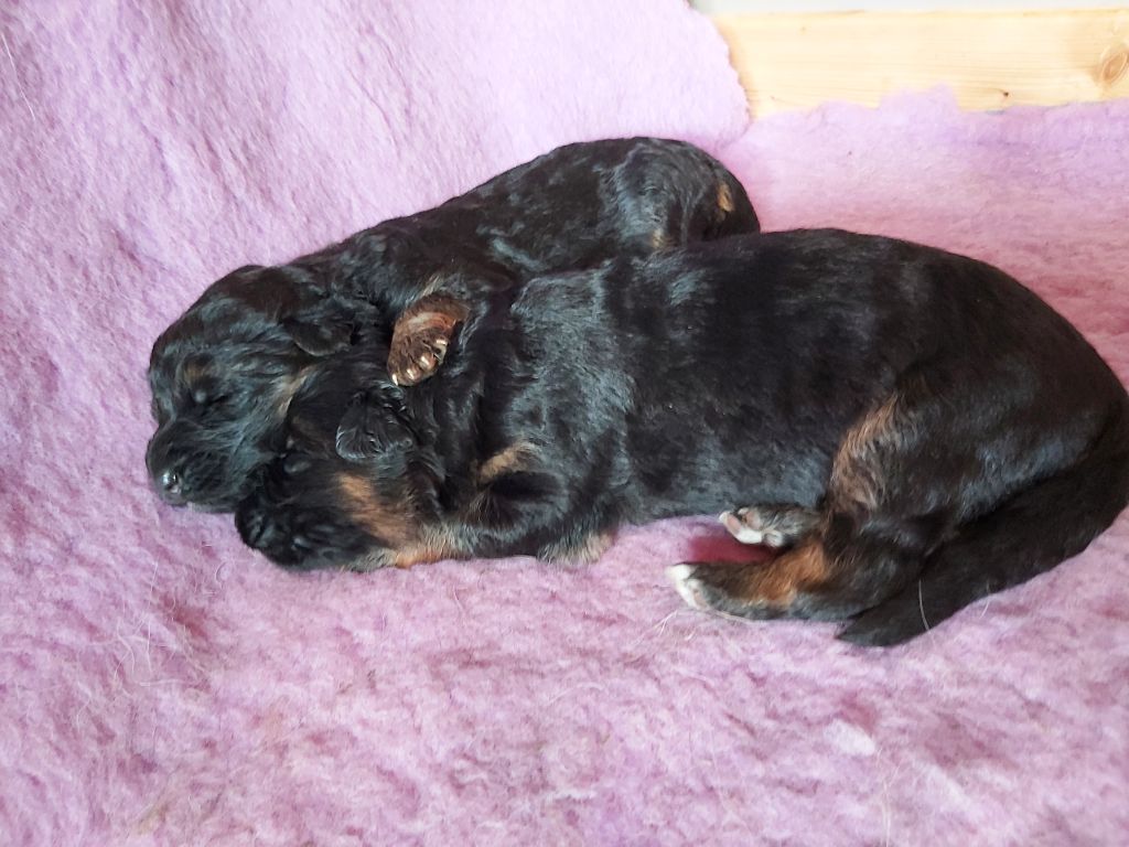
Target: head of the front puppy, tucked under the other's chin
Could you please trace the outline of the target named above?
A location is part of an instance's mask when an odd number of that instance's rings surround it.
[[[244,542],[275,564],[371,569],[435,535],[444,466],[423,411],[429,401],[413,409],[386,358],[386,331],[365,326],[295,394],[285,447],[235,515]],[[364,443],[356,455],[342,451],[342,420]]]

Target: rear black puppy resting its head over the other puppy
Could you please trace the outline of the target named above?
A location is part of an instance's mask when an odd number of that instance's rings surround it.
[[[360,328],[403,317],[384,355],[409,385],[495,289],[756,228],[741,183],[701,150],[616,139],[561,147],[289,264],[240,268],[154,346],[150,477],[169,504],[231,510],[282,447],[295,392]]]

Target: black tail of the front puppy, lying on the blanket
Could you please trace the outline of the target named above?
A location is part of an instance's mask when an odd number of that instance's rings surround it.
[[[1129,503],[1129,399],[1122,396],[1086,456],[995,512],[965,524],[919,579],[859,614],[839,635],[890,646],[965,605],[1080,553]]]

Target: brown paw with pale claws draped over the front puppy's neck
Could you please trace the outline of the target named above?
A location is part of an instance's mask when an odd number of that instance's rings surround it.
[[[456,328],[466,320],[466,303],[448,294],[420,298],[400,315],[392,332],[388,374],[396,385],[415,385],[443,364]]]

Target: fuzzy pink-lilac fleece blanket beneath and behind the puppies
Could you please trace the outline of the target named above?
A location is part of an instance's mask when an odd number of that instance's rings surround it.
[[[1129,844],[1129,516],[908,646],[683,608],[708,519],[597,565],[291,575],[147,487],[213,278],[557,145],[659,134],[765,228],[996,262],[1129,377],[1129,102],[753,124],[677,0],[0,10],[0,844]]]

